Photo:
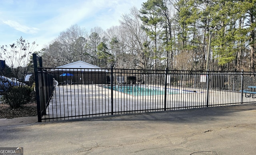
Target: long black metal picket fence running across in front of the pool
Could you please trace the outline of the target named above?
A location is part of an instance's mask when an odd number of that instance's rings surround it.
[[[44,121],[252,103],[256,94],[255,73],[243,71],[39,67],[37,74]]]

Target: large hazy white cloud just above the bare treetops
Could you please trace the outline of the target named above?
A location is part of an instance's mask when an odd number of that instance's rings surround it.
[[[44,27],[48,32],[53,31],[57,33],[65,31],[74,24],[78,24],[88,31],[94,27],[107,29],[111,26],[119,25],[122,14],[128,13],[133,6],[140,6],[142,4],[141,1],[145,0],[136,0],[136,3],[130,0],[85,0],[72,1],[73,3],[68,2],[62,4],[61,7],[56,7],[54,16],[41,22],[40,27]]]

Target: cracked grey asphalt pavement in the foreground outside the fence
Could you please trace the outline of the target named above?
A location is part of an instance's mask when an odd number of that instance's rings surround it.
[[[256,104],[38,123],[0,119],[0,147],[24,155],[253,155]]]

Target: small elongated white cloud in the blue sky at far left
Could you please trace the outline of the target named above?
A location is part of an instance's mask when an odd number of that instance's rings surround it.
[[[13,27],[14,29],[21,31],[23,33],[30,33],[30,34],[34,34],[38,32],[38,28],[36,27],[28,27],[28,26],[24,26],[19,24],[18,22],[12,21],[12,20],[6,20],[3,21],[4,24],[7,24],[10,27]]]

